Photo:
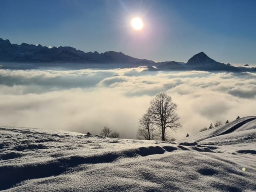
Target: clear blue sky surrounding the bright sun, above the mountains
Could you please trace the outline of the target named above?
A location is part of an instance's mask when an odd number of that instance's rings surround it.
[[[0,37],[11,43],[114,50],[186,62],[256,64],[256,0],[0,0]],[[130,21],[140,17],[142,30]]]

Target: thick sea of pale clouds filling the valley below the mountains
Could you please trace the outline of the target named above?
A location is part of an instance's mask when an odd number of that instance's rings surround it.
[[[159,92],[178,104],[175,138],[215,120],[256,114],[256,74],[114,70],[0,70],[0,124],[136,138],[138,118]]]

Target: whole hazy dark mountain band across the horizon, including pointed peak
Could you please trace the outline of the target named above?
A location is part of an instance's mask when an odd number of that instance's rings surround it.
[[[40,44],[11,44],[9,40],[3,40],[2,38],[0,38],[0,62],[4,62],[1,66],[1,68],[4,69],[37,68],[39,66],[62,66],[71,68],[72,66],[76,66],[78,68],[85,68],[84,64],[96,64],[94,66],[99,68],[99,65],[97,64],[104,64],[104,67],[106,67],[106,64],[116,64],[115,66],[119,68],[144,65],[147,66],[149,70],[256,72],[255,67],[235,67],[230,64],[217,62],[209,58],[204,52],[194,55],[187,63],[176,61],[154,62],[152,60],[134,58],[125,55],[122,52],[108,51],[98,53],[95,51],[85,53],[69,46],[48,48],[46,46],[41,46]],[[6,63],[16,63],[16,65]],[[79,64],[79,66],[77,66],[77,64]],[[107,67],[110,66],[108,65]]]

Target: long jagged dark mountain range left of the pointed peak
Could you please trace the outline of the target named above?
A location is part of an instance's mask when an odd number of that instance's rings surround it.
[[[108,51],[104,53],[76,50],[72,47],[48,48],[26,43],[11,44],[9,40],[0,38],[0,61],[5,62],[36,62],[36,63],[125,63],[150,65],[153,61],[137,59],[122,52]]]

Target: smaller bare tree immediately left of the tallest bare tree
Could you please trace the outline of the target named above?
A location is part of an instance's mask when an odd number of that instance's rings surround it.
[[[144,113],[139,119],[137,138],[145,140],[154,140],[156,138],[156,131],[153,126],[153,119],[149,111]]]

